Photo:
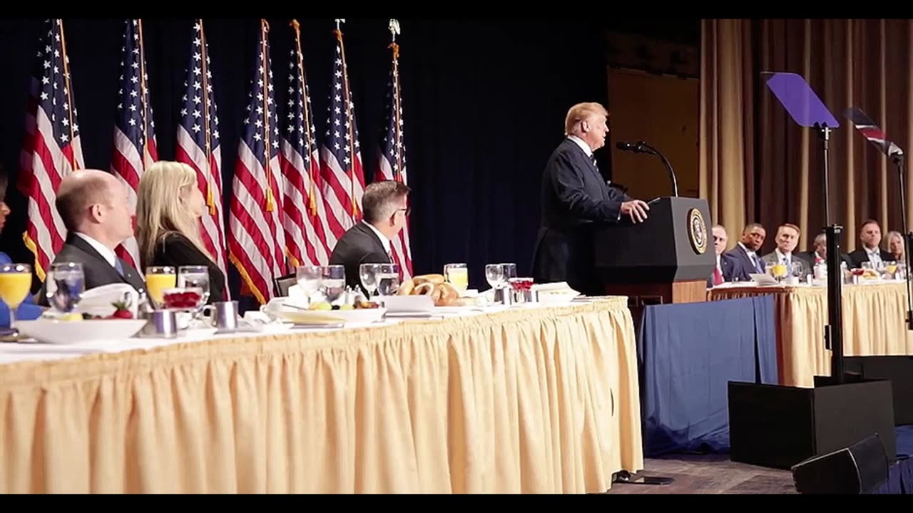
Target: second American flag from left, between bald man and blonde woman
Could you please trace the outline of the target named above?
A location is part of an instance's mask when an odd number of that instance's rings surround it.
[[[155,145],[155,123],[149,101],[149,76],[146,74],[146,54],[142,45],[142,21],[127,20],[124,45],[121,47],[121,84],[118,91],[117,121],[114,125],[114,145],[111,173],[127,184],[132,207],[136,208],[136,191],[146,167],[159,159]],[[135,218],[134,218],[135,225]],[[142,269],[140,248],[130,237],[117,248],[118,257],[136,269]]]

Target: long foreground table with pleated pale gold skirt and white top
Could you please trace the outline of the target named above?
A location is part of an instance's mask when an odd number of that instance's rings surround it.
[[[0,492],[592,493],[643,468],[626,298],[0,344]]]

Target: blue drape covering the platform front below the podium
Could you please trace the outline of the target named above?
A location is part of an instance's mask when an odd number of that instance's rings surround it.
[[[771,296],[646,307],[637,345],[648,456],[728,451],[727,383],[777,382]]]

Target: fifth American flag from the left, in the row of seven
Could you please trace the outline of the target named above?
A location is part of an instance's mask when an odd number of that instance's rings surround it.
[[[298,21],[293,20],[292,26],[295,47],[289,59],[288,114],[283,118],[279,140],[279,164],[285,179],[282,224],[293,266],[325,266],[330,261],[336,237],[327,223],[317,129],[301,55]]]

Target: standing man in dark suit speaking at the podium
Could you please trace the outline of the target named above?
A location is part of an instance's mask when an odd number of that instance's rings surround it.
[[[602,295],[593,264],[593,228],[628,215],[646,219],[650,207],[610,187],[593,152],[605,145],[608,111],[599,103],[578,103],[564,120],[564,141],[551,153],[542,176],[539,236],[532,257],[537,283],[566,281],[581,294]]]

